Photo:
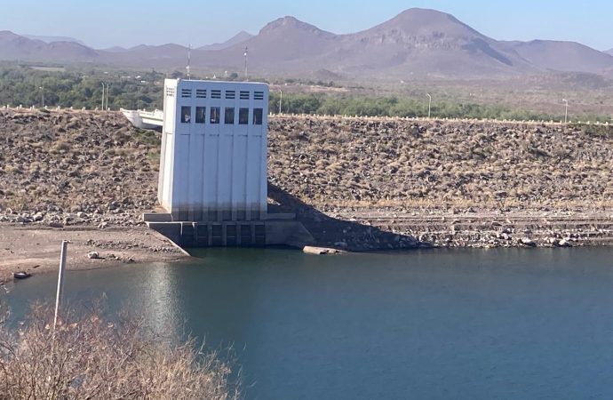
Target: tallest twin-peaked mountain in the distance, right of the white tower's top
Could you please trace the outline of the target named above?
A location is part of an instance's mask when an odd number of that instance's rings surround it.
[[[258,36],[222,52],[196,54],[195,62],[241,65],[249,48],[251,69],[264,74],[313,74],[389,78],[506,76],[535,72],[511,48],[449,14],[411,9],[375,28],[335,35],[293,17],[262,28]]]

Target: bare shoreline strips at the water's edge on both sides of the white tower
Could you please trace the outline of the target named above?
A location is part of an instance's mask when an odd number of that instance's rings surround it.
[[[314,230],[313,245],[344,252],[613,245],[613,210],[402,212],[362,208],[303,214],[299,220]],[[0,283],[22,270],[35,274],[57,271],[61,240],[69,242],[68,270],[190,258],[171,240],[143,225],[51,228],[43,222],[0,223]],[[98,252],[98,258],[90,259],[90,252]]]

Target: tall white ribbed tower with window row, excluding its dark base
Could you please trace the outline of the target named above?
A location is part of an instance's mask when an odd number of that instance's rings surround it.
[[[268,85],[166,79],[158,200],[175,221],[264,220]]]

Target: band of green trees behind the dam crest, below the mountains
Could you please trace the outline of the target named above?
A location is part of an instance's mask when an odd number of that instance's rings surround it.
[[[13,107],[45,105],[62,108],[100,108],[102,84],[109,84],[108,107],[112,109],[154,109],[163,107],[163,79],[185,77],[180,72],[166,75],[149,71],[117,71],[99,69],[73,69],[58,71],[0,65],[0,105]],[[356,94],[284,92],[270,93],[269,109],[272,113],[315,114],[346,116],[402,116],[424,117],[428,104],[423,99],[386,96],[369,97]],[[498,104],[437,101],[430,109],[436,118],[489,118],[509,120],[553,120],[561,115],[549,115],[523,109],[506,108]],[[583,116],[586,121],[609,121],[609,116]]]

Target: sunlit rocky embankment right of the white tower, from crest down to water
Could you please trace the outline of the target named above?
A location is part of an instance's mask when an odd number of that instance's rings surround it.
[[[399,235],[384,247],[613,244],[610,127],[283,117],[270,128],[271,182]],[[322,240],[350,244],[343,230]]]

